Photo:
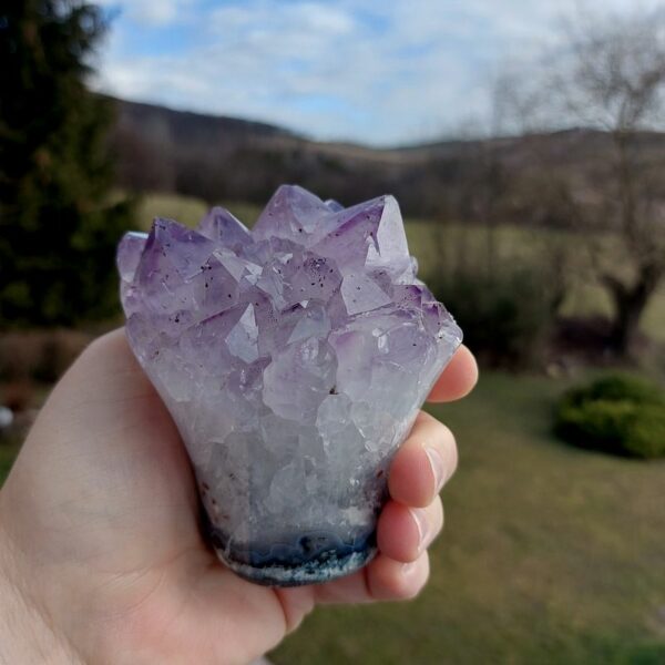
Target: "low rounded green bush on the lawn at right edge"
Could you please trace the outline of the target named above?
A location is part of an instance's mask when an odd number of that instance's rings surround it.
[[[635,377],[614,375],[566,392],[556,433],[581,448],[636,458],[665,456],[665,391]]]

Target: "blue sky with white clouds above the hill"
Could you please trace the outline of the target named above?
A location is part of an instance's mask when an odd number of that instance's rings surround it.
[[[94,85],[319,140],[415,143],[487,124],[493,82],[555,52],[575,1],[98,0],[113,19]]]

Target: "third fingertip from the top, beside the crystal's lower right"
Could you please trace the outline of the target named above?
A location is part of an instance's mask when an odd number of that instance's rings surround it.
[[[381,553],[409,563],[416,561],[443,528],[443,505],[437,497],[427,508],[408,508],[389,501],[377,528]]]

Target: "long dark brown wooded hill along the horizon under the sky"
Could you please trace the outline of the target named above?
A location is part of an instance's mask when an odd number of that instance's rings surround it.
[[[593,198],[597,165],[610,162],[611,139],[594,130],[372,149],[313,141],[234,117],[116,104],[112,144],[120,157],[119,184],[208,203],[263,203],[279,184],[296,182],[347,204],[390,192],[410,215],[459,215],[495,195],[492,190],[504,187],[507,178],[511,185],[529,181],[542,166],[550,175],[572,170],[580,194]],[[663,170],[665,134],[644,133],[640,149],[654,170]]]

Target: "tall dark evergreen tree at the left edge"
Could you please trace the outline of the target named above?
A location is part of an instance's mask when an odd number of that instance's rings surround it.
[[[0,0],[0,321],[71,325],[116,311],[111,102],[92,94],[101,10]],[[117,198],[117,197],[116,197]]]

